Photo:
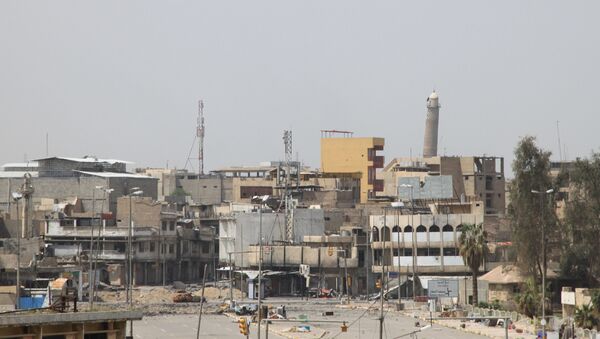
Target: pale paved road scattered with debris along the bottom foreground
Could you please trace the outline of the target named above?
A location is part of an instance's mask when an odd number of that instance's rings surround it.
[[[271,331],[269,338],[379,338],[379,311],[371,310],[365,312],[364,309],[343,309],[335,307],[335,303],[311,303],[311,302],[291,302],[286,303],[285,300],[268,300],[269,303],[276,307],[285,304],[289,318],[296,318],[303,314],[311,320],[335,320],[348,321],[348,324],[354,322],[349,327],[348,332],[340,333],[340,324],[333,323],[318,323],[317,321],[309,321],[307,325],[311,327],[310,333],[291,333],[290,328],[298,325],[296,323],[274,323],[270,326]],[[323,316],[324,311],[333,311],[333,316]],[[196,325],[198,318],[195,315],[163,315],[144,317],[143,320],[134,324],[135,338],[162,339],[162,338],[196,338]],[[421,326],[427,325],[421,322]],[[415,327],[415,319],[402,316],[396,312],[387,312],[384,322],[384,338],[396,338],[403,334],[408,334],[418,329]],[[275,331],[275,333],[273,332]],[[283,334],[278,336],[276,333]],[[202,338],[239,338],[243,336],[238,331],[238,324],[234,319],[225,315],[206,315],[202,319]],[[256,327],[252,327],[251,338],[256,338]],[[420,332],[418,338],[441,338],[444,339],[480,339],[483,336],[469,334],[454,329],[435,325],[432,328]],[[264,329],[263,329],[264,338]]]

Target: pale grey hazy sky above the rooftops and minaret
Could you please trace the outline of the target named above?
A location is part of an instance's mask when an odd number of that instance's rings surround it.
[[[321,129],[507,160],[520,136],[598,150],[598,1],[0,2],[0,163],[46,155],[181,168],[205,101],[206,169],[319,167]],[[193,156],[197,151],[194,149]],[[197,160],[193,160],[194,169]],[[189,168],[189,167],[188,167]]]

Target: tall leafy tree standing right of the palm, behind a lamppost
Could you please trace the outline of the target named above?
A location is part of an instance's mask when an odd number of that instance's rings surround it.
[[[547,255],[542,253],[542,227],[547,239],[555,239],[557,218],[553,195],[535,194],[553,187],[550,176],[550,155],[537,147],[535,138],[524,137],[515,148],[512,163],[514,179],[510,183],[508,216],[517,264],[526,274],[536,277],[536,282],[547,267]],[[548,252],[548,246],[545,246]]]

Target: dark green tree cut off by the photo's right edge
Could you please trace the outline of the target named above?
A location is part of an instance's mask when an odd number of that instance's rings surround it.
[[[565,270],[578,273],[588,284],[600,276],[600,153],[578,159],[569,170],[570,193],[566,204],[565,230],[570,241],[571,265]],[[567,251],[567,253],[569,253]],[[573,277],[573,275],[571,275]]]

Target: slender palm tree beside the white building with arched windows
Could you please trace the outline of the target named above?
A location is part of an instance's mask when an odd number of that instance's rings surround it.
[[[459,239],[459,253],[473,274],[473,305],[477,305],[477,274],[487,253],[487,232],[483,224],[465,224]]]

